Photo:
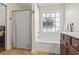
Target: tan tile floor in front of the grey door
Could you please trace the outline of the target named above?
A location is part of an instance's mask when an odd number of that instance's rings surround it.
[[[10,49],[1,52],[0,55],[48,55],[48,53],[47,52],[31,53],[30,50],[26,49]]]

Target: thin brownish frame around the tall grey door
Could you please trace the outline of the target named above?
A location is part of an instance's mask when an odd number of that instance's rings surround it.
[[[30,49],[29,50],[32,50],[32,10],[31,9],[27,9],[27,10],[29,10],[30,11]],[[14,11],[12,11],[12,28],[13,28],[13,22],[14,22],[14,20],[13,20],[13,13],[14,12],[17,12],[17,11],[27,11],[27,10],[14,10]],[[12,48],[14,48],[13,47],[13,39],[14,39],[14,37],[13,37],[13,30],[12,30]]]

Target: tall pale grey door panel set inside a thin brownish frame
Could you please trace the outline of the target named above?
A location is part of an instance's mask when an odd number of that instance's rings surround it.
[[[13,21],[13,47],[31,49],[30,10],[13,12]]]

